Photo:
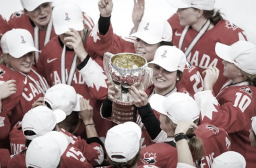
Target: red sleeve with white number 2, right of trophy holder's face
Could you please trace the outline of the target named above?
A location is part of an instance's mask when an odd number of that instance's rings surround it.
[[[177,88],[185,88],[190,95],[195,95],[199,91],[203,91],[203,79],[198,68],[187,62],[183,71],[183,77],[177,83]]]

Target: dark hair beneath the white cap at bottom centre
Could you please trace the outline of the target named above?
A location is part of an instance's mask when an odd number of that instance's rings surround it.
[[[113,168],[129,168],[129,167],[134,166],[137,163],[137,161],[139,161],[139,159],[140,159],[140,148],[139,148],[138,153],[135,155],[135,157],[133,157],[133,159],[127,161],[126,163],[119,163],[119,162],[112,161],[110,159],[110,157],[108,157],[108,155],[106,155],[106,157],[107,157],[108,163],[110,163],[110,165],[113,165]],[[121,155],[113,155],[112,157],[115,157],[117,159],[125,158]]]

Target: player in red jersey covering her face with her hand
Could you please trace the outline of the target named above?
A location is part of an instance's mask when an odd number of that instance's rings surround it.
[[[104,142],[106,131],[112,124],[99,114],[102,99],[107,94],[107,78],[102,67],[92,59],[94,52],[90,52],[88,46],[84,48],[89,30],[84,28],[80,7],[75,3],[57,5],[53,9],[53,26],[58,36],[44,46],[37,69],[51,86],[57,83],[72,85],[77,93],[90,101],[96,130]]]

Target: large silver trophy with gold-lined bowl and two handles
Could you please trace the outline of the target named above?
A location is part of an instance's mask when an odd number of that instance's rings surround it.
[[[136,122],[137,110],[132,99],[127,95],[131,85],[146,90],[152,83],[152,69],[142,56],[131,53],[104,54],[104,71],[108,80],[113,81],[118,90],[113,100],[111,120],[120,124],[127,121]]]

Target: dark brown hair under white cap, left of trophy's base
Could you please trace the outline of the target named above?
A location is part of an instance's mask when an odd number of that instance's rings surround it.
[[[72,134],[77,130],[80,124],[79,113],[71,112],[69,116],[66,116],[65,120],[58,123],[59,128],[63,128],[67,132]]]

